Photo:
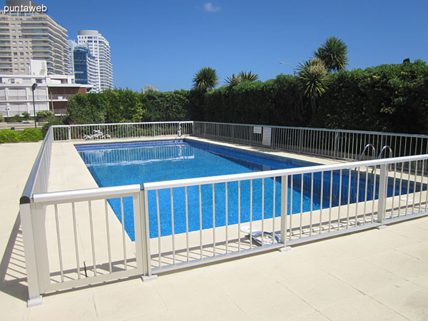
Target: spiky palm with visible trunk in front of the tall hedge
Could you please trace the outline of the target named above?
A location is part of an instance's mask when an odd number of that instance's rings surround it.
[[[299,89],[303,91],[304,96],[310,98],[312,113],[315,113],[316,99],[325,93],[330,83],[330,75],[327,73],[325,63],[319,58],[313,58],[299,63],[297,71]]]

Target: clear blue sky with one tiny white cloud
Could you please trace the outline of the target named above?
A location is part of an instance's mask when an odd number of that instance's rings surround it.
[[[76,39],[98,30],[110,43],[116,88],[190,89],[195,73],[261,81],[312,56],[330,36],[347,44],[347,69],[404,58],[428,61],[428,1],[35,0]],[[280,63],[283,61],[285,63]]]

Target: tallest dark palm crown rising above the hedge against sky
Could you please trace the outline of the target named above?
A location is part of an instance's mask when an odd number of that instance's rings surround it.
[[[327,71],[341,71],[349,63],[345,42],[336,37],[330,37],[314,52],[314,58],[324,61]]]

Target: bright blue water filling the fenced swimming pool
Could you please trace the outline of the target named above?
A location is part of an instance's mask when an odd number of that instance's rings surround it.
[[[146,143],[116,143],[116,144],[88,144],[77,145],[76,149],[83,161],[91,171],[93,178],[100,187],[141,184],[161,180],[174,180],[181,178],[198,178],[213,175],[226,175],[234,173],[250,173],[260,170],[276,170],[317,165],[304,161],[296,161],[290,158],[266,156],[250,151],[240,151],[234,148],[220,148],[213,144],[196,143],[194,141],[155,141]],[[349,175],[351,180],[349,182]],[[313,198],[310,202],[311,184],[310,174],[303,176],[303,189],[301,188],[301,175],[293,176],[293,189],[289,180],[288,199],[292,196],[292,213],[300,213],[308,210],[328,208],[330,205],[330,180],[332,179],[332,206],[347,204],[348,190],[350,190],[350,202],[357,198],[357,173],[355,171],[342,171],[342,193],[340,190],[339,171],[325,173],[321,182],[321,173],[315,173],[313,177]],[[372,200],[373,194],[377,198],[378,188],[373,193],[374,175],[368,177],[367,200]],[[351,183],[351,188],[348,188]],[[377,187],[379,179],[377,178]],[[264,185],[264,210],[262,211],[262,195]],[[260,220],[262,212],[264,218],[272,218],[275,205],[275,216],[280,215],[280,178],[274,180],[266,178],[253,180],[253,220]],[[398,194],[396,188],[392,190],[393,182],[388,184],[388,195]],[[405,186],[404,186],[405,185]],[[320,190],[323,190],[321,202]],[[371,188],[371,189],[370,189]],[[420,186],[417,186],[419,190]],[[424,189],[426,186],[424,185]],[[240,222],[250,221],[250,181],[240,183]],[[301,193],[303,190],[303,195]],[[402,184],[402,190],[407,191],[407,184]],[[213,185],[201,186],[202,203],[202,227],[212,228],[224,226],[226,221],[225,211],[225,183],[215,184],[215,222],[213,222]],[[159,190],[159,212],[161,236],[172,233],[172,218],[170,205],[170,190]],[[300,202],[302,196],[302,203]],[[360,175],[359,200],[365,198],[365,175]],[[116,216],[121,220],[121,201],[119,199],[108,200]],[[289,201],[290,204],[290,201]],[[185,188],[173,188],[174,205],[174,233],[185,233]],[[131,240],[134,240],[133,205],[131,198],[123,200],[126,232]],[[150,236],[158,236],[158,217],[156,208],[156,192],[148,191],[148,212],[150,223]],[[290,205],[287,208],[290,213]],[[238,223],[238,182],[228,183],[228,224]],[[188,187],[188,230],[199,230],[199,190],[198,186]]]

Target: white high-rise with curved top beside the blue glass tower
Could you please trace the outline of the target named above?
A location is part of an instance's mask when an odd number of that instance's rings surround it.
[[[79,30],[77,44],[86,46],[91,56],[95,57],[96,81],[94,83],[88,81],[88,84],[93,86],[91,91],[99,92],[113,88],[113,68],[108,41],[96,30]]]

